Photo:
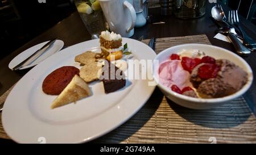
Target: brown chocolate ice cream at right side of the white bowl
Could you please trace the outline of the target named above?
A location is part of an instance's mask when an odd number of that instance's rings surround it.
[[[236,93],[247,82],[247,73],[225,59],[216,60],[221,66],[216,78],[210,78],[200,83],[197,93],[202,98],[220,98]]]

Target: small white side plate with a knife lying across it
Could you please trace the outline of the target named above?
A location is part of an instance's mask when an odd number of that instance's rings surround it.
[[[31,56],[34,52],[38,51],[38,49],[42,48],[48,41],[45,41],[44,43],[40,43],[37,45],[34,45],[34,47],[28,48],[22,53],[20,53],[18,56],[13,58],[11,62],[9,63],[9,68],[13,69],[16,65],[18,65],[20,62],[25,60],[27,57]],[[34,62],[32,62],[30,65],[24,66],[23,68],[20,68],[19,70],[22,69],[27,69],[31,68],[32,66],[35,66],[39,64],[39,62],[45,60],[47,57],[53,55],[54,53],[60,51],[61,48],[63,48],[64,42],[62,40],[56,40],[50,48],[47,49],[45,53],[43,53],[42,56],[38,57]]]

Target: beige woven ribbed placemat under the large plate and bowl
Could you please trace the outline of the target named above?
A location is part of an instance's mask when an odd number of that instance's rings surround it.
[[[210,44],[206,35],[167,37],[156,39],[155,51],[186,43]],[[0,97],[0,104],[10,90]],[[1,119],[0,138],[9,139]],[[211,110],[191,110],[156,88],[137,114],[92,143],[256,143],[256,118],[243,97]]]

